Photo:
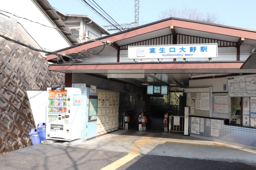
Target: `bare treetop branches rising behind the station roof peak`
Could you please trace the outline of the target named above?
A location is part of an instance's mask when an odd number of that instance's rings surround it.
[[[169,17],[203,21],[207,23],[223,24],[223,22],[221,22],[218,19],[217,15],[214,13],[207,12],[206,14],[204,14],[198,11],[196,8],[187,8],[186,6],[183,7],[183,9],[169,8],[161,12],[160,14],[158,14],[159,20],[169,18]]]

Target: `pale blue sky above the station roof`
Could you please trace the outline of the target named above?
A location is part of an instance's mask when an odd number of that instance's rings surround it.
[[[86,0],[93,2],[93,0]],[[89,10],[81,0],[48,0],[48,2],[65,14],[89,15],[101,25],[109,25],[101,17]],[[94,0],[117,23],[134,22],[134,0]],[[256,0],[140,0],[139,25],[159,20],[162,11],[170,8],[195,8],[206,14],[213,13],[226,26],[256,30]]]

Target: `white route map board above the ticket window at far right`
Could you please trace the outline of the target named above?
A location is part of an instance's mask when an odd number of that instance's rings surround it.
[[[230,97],[256,96],[256,74],[227,77]]]

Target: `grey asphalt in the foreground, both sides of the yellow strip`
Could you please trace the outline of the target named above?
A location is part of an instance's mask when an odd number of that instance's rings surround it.
[[[38,144],[0,155],[0,170],[100,170],[125,152]],[[118,170],[256,170],[239,162],[141,154]]]

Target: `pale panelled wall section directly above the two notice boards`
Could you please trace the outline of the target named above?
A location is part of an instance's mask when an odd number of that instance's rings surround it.
[[[224,91],[224,84],[226,84],[226,91]],[[189,80],[189,88],[212,87],[212,93],[228,92],[227,86],[227,77]]]

